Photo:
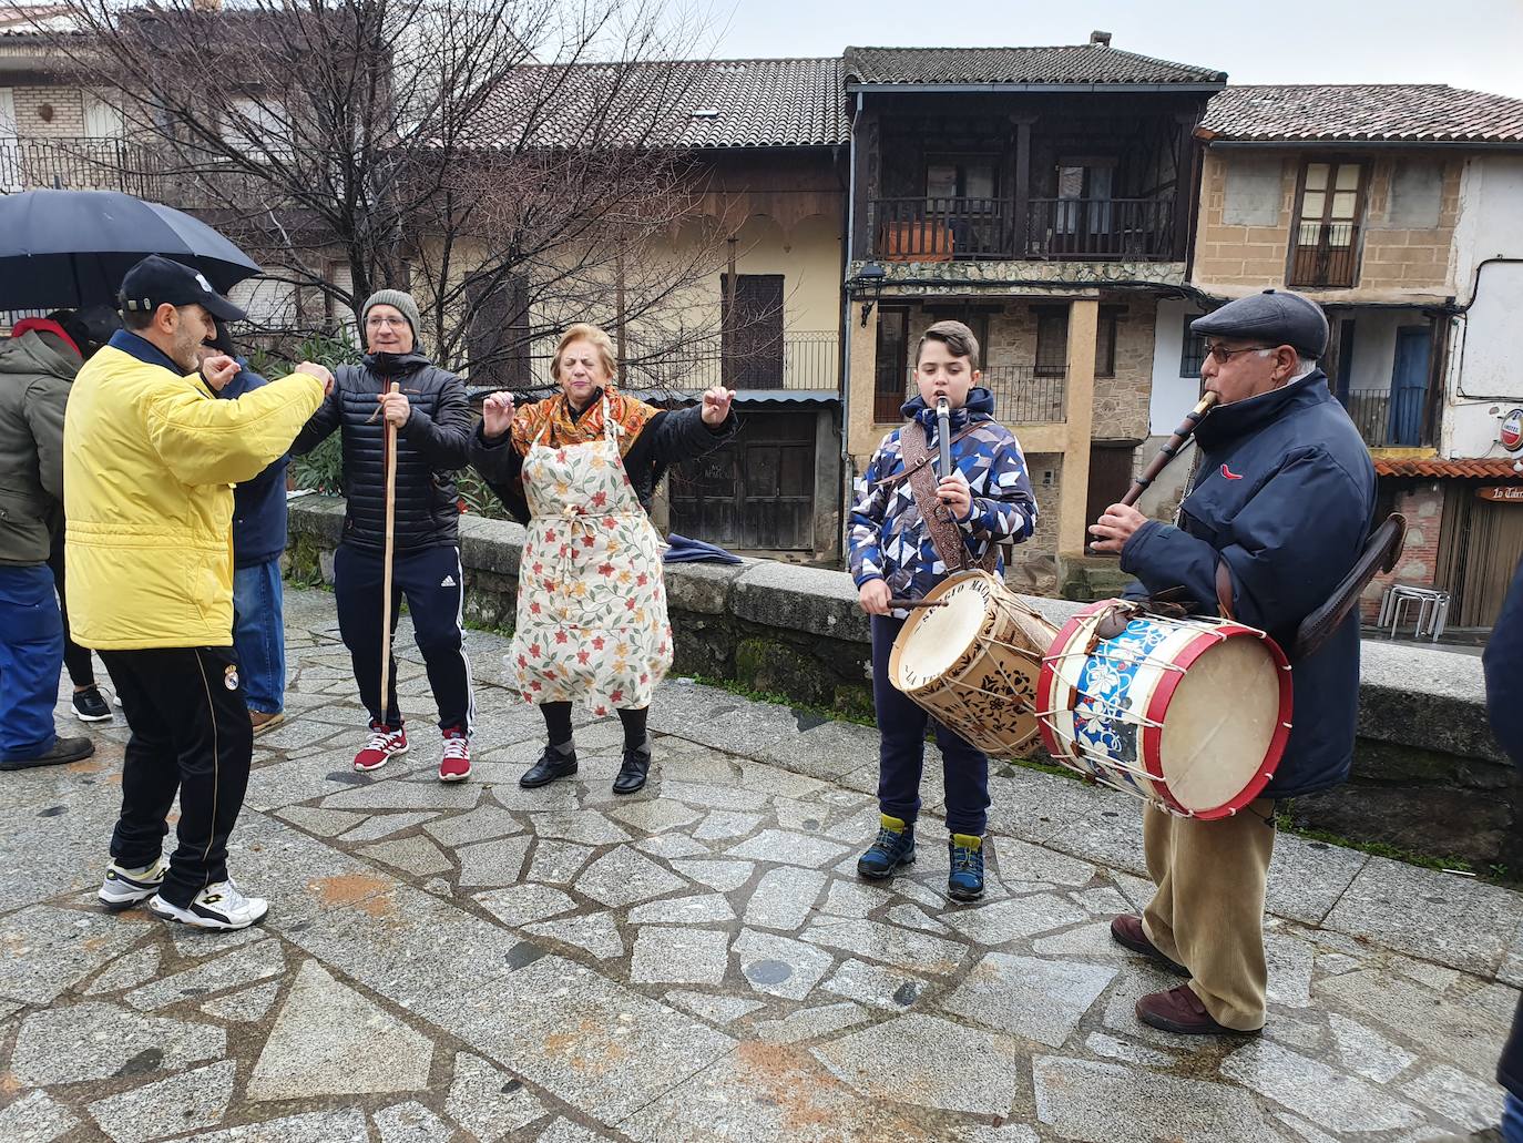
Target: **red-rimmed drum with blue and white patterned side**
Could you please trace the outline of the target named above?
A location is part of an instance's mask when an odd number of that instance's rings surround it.
[[[1290,695],[1290,664],[1263,631],[1110,599],[1052,643],[1037,718],[1057,762],[1170,812],[1218,818],[1273,776]]]

